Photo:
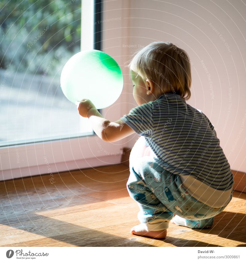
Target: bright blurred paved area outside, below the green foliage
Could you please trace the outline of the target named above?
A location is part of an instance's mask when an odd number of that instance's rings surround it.
[[[0,146],[86,135],[93,131],[88,119],[81,117],[76,105],[65,96],[46,96],[6,85],[1,91]]]

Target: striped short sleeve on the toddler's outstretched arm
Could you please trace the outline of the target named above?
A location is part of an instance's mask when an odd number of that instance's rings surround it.
[[[153,107],[150,102],[134,107],[121,120],[138,135],[149,137],[153,134]]]

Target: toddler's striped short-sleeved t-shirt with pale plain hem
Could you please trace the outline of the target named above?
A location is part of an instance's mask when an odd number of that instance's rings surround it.
[[[177,94],[163,94],[121,120],[145,137],[157,163],[180,175],[194,197],[214,207],[229,201],[234,182],[230,165],[213,125],[200,110]]]

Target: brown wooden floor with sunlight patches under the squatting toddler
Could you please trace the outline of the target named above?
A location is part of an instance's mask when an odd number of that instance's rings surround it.
[[[131,235],[139,222],[128,176],[120,164],[1,181],[0,246],[246,246],[246,194],[236,191],[210,229],[170,224],[166,239]]]

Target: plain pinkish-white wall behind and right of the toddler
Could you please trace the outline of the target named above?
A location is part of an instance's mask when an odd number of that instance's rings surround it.
[[[130,55],[153,41],[170,41],[185,49],[193,63],[188,104],[202,110],[215,126],[231,168],[246,172],[246,0],[116,0],[105,1],[104,10],[104,19],[121,17],[103,27],[104,51],[118,56],[123,69],[121,113],[137,105],[124,68]],[[110,111],[112,119],[117,107]],[[119,143],[132,147],[137,137]]]

